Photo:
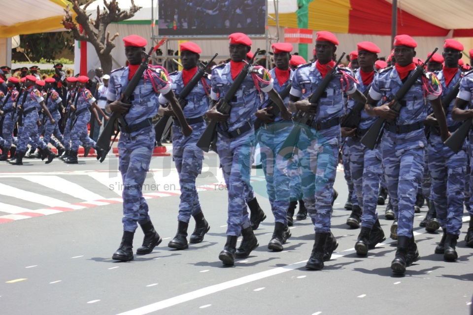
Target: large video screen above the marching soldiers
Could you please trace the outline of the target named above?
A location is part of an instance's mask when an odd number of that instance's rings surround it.
[[[159,0],[158,29],[167,36],[264,35],[266,0]]]

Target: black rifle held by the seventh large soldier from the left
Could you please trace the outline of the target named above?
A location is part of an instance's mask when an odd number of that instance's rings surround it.
[[[409,75],[405,83],[402,85],[402,87],[399,89],[399,91],[396,93],[396,95],[390,95],[390,97],[386,100],[386,102],[390,102],[392,100],[396,101],[393,106],[391,106],[392,110],[398,113],[401,111],[401,103],[399,101],[404,97],[404,95],[407,94],[407,92],[414,85],[414,83],[417,82],[417,79],[420,78],[422,74],[424,74],[424,66],[430,61],[430,59],[438,49],[439,48],[436,47],[424,63],[416,65],[415,69],[411,72],[411,74]],[[378,117],[376,121],[372,124],[370,129],[368,129],[368,131],[365,133],[363,138],[361,138],[360,142],[363,143],[368,149],[373,150],[385,123],[385,118]]]

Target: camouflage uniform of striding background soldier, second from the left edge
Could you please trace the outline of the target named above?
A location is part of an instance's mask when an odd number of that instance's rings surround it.
[[[19,135],[19,140],[17,144],[17,152],[26,152],[28,143],[31,139],[31,145],[33,148],[46,149],[48,146],[44,141],[39,137],[37,121],[39,118],[38,109],[39,103],[44,101],[41,92],[34,88],[30,87],[27,91],[25,103],[23,107],[23,126],[21,127],[21,135]],[[23,99],[23,95],[21,96]],[[20,102],[22,101],[20,100]]]

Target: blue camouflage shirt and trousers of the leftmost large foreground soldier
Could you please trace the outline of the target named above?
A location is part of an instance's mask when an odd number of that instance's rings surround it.
[[[110,73],[107,100],[120,99],[129,83],[129,68],[123,67]],[[123,230],[135,232],[137,223],[150,221],[148,204],[141,191],[149,169],[155,143],[152,118],[158,112],[157,93],[171,90],[168,73],[163,67],[150,66],[139,80],[133,95],[132,106],[124,116],[128,127],[121,126],[118,141],[119,169],[123,181]]]

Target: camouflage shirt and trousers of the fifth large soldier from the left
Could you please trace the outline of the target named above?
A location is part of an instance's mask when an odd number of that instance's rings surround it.
[[[302,130],[298,142],[299,149],[303,151],[299,163],[305,207],[314,223],[315,232],[319,233],[330,232],[333,185],[341,144],[339,119],[345,114],[343,93],[352,94],[356,91],[354,81],[348,79],[347,75],[352,76],[353,73],[349,69],[337,69],[325,91],[326,95],[319,99],[311,128]],[[322,80],[316,62],[299,66],[292,79],[291,95],[307,98]]]

